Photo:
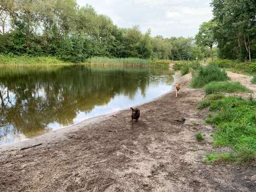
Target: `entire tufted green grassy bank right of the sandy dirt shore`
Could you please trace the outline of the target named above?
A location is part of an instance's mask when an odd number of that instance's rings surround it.
[[[188,71],[191,70],[192,67],[189,67]],[[206,93],[198,108],[208,110],[206,121],[216,129],[213,134],[214,145],[232,149],[232,152],[207,154],[204,159],[207,164],[246,164],[256,161],[256,101],[252,98],[245,100],[236,96],[224,96],[222,93],[251,92],[239,82],[229,80],[225,70],[216,63],[200,66],[193,71],[191,86],[203,87]],[[203,140],[200,134],[196,134],[195,138],[197,141]]]

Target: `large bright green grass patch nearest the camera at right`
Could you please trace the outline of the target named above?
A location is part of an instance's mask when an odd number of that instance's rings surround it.
[[[228,96],[206,100],[211,113],[207,123],[215,126],[215,146],[229,146],[236,152],[235,161],[248,163],[256,160],[256,101]]]

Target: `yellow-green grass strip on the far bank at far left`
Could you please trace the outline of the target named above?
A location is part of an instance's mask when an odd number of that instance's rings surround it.
[[[2,65],[50,65],[50,64],[65,64],[56,57],[31,57],[28,55],[9,56],[0,54],[0,64]]]

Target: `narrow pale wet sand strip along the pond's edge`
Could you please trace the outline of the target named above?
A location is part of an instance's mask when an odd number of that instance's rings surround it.
[[[163,94],[161,94],[161,95],[157,96],[156,98],[153,98],[149,101],[142,102],[142,103],[139,103],[139,104],[131,106],[131,107],[135,107],[135,106],[140,107],[140,106],[142,106],[146,103],[156,101],[158,99],[161,99],[161,97],[164,97],[164,96],[172,93],[174,91],[174,89],[173,89],[174,84],[175,84],[175,82],[177,82],[179,80],[179,78],[181,78],[181,75],[180,75],[180,72],[176,72],[172,76],[173,76],[173,84],[172,84],[172,88],[171,88],[170,91],[168,91],[166,93],[163,93]],[[57,140],[64,140],[66,138],[65,134],[68,134],[68,133],[73,132],[73,131],[77,131],[81,127],[85,127],[85,126],[88,126],[88,125],[96,123],[96,122],[107,120],[112,115],[114,115],[116,113],[119,113],[119,112],[122,112],[122,111],[125,111],[125,110],[129,110],[129,109],[130,109],[130,107],[124,108],[122,110],[118,110],[118,111],[115,111],[115,112],[112,112],[112,113],[109,113],[109,114],[89,118],[89,119],[83,120],[79,123],[69,125],[67,127],[63,127],[63,128],[58,129],[58,130],[55,130],[55,131],[46,132],[42,135],[38,135],[38,136],[36,136],[34,138],[31,138],[31,139],[26,139],[24,141],[13,143],[13,144],[3,145],[3,146],[0,146],[0,151],[3,152],[3,151],[15,150],[15,149],[19,149],[19,148],[23,148],[23,147],[27,147],[27,146],[32,146],[32,145],[35,145],[35,144],[45,144],[45,143],[49,143],[49,142],[53,142],[53,141],[57,141]]]

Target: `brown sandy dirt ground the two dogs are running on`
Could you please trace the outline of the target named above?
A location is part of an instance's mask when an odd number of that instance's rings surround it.
[[[255,192],[256,167],[202,163],[219,149],[202,125],[205,111],[196,109],[203,91],[188,88],[188,75],[181,82],[178,98],[140,106],[133,126],[123,110],[65,140],[0,153],[0,192]]]

